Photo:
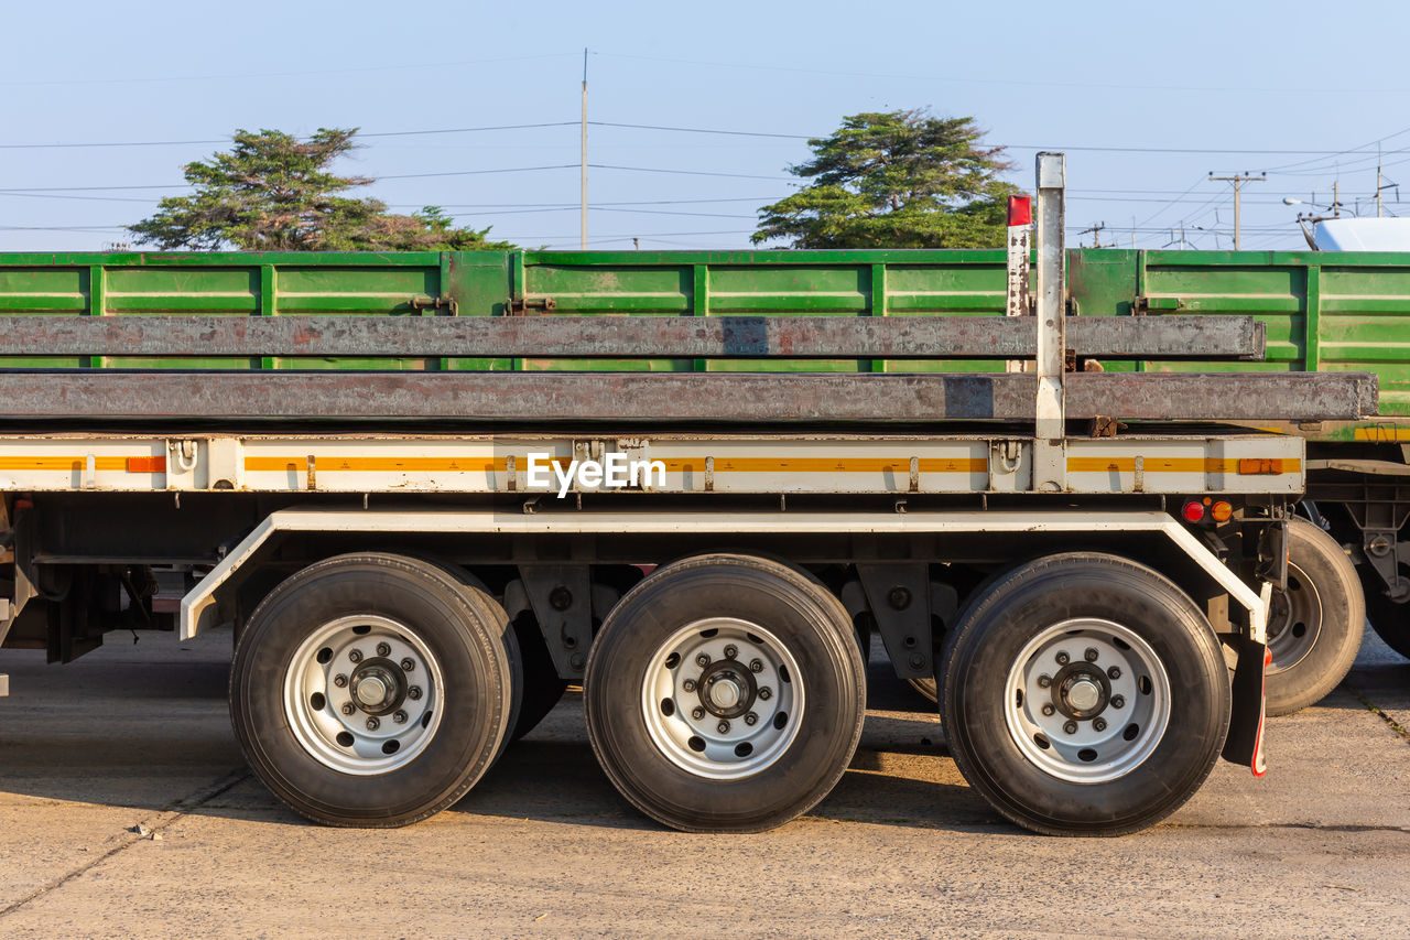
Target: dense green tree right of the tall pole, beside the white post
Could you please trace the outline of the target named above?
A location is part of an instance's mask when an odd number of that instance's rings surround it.
[[[788,172],[811,179],[759,210],[750,241],[795,248],[991,248],[1004,244],[1007,198],[1018,192],[1003,147],[980,144],[973,117],[924,110],[853,114],[814,158]]]

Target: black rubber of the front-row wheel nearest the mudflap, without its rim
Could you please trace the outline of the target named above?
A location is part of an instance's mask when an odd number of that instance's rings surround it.
[[[1136,631],[1170,677],[1160,744],[1105,783],[1070,783],[1039,769],[1012,742],[1001,711],[1024,645],[1038,629],[1079,617]],[[1210,775],[1231,694],[1218,638],[1179,587],[1128,559],[1072,552],[1021,565],[976,598],[948,637],[940,709],[960,773],[1007,819],[1048,836],[1124,836],[1173,813]]]

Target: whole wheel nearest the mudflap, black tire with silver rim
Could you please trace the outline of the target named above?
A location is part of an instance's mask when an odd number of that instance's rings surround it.
[[[1014,823],[1121,836],[1208,776],[1230,685],[1204,614],[1156,572],[1073,552],[994,582],[950,632],[940,709],[964,779]]]

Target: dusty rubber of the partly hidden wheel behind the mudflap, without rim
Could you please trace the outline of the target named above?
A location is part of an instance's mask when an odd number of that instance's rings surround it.
[[[1321,629],[1313,648],[1294,666],[1268,670],[1269,716],[1292,714],[1317,704],[1356,662],[1366,622],[1366,601],[1356,566],[1337,539],[1316,522],[1293,517],[1287,528],[1289,562],[1311,580],[1321,601]]]

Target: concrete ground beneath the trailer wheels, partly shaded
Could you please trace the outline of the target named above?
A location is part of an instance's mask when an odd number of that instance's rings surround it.
[[[574,694],[451,810],[321,828],[247,772],[228,652],[228,635],[110,634],[69,666],[0,653],[0,934],[1410,934],[1410,662],[1371,634],[1341,689],[1269,721],[1265,779],[1221,764],[1167,823],[1115,840],[990,812],[877,662],[852,769],[771,833],[639,816]]]

